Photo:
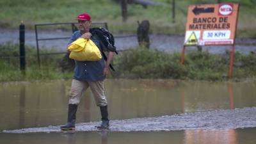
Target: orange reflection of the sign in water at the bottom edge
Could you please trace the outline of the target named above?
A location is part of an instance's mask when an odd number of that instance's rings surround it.
[[[236,131],[228,130],[185,130],[184,144],[237,144]]]

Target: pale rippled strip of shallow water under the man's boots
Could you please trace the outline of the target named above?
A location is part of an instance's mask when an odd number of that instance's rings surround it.
[[[76,131],[99,131],[95,128],[100,122],[76,124]],[[131,118],[126,120],[111,120],[108,131],[179,131],[187,129],[237,129],[256,127],[256,108],[235,110],[207,111],[199,113],[185,113],[182,115],[158,116],[146,118]],[[10,133],[27,132],[61,132],[60,125],[48,127],[34,127],[17,130],[4,130]]]

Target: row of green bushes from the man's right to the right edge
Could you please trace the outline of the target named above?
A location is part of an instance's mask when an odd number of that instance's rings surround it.
[[[256,55],[236,52],[234,77],[239,79],[256,76]],[[230,56],[189,52],[180,65],[180,53],[168,54],[138,47],[122,52],[114,61],[116,77],[122,78],[171,78],[223,81],[228,79]]]

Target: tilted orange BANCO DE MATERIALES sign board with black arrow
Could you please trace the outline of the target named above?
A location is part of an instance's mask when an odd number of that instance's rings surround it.
[[[232,45],[239,4],[200,4],[188,7],[184,45]]]

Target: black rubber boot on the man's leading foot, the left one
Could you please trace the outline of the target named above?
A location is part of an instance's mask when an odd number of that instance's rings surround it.
[[[70,131],[75,130],[76,124],[76,104],[68,104],[68,122],[67,124],[60,127],[62,131]]]

